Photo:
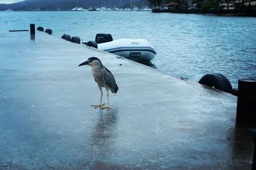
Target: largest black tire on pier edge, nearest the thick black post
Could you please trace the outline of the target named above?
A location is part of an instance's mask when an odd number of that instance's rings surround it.
[[[221,73],[205,74],[200,79],[199,83],[206,86],[214,87],[216,89],[220,89],[221,91],[225,91],[227,93],[231,93],[232,90],[232,85],[230,84],[230,81],[228,81],[227,77],[225,77]]]

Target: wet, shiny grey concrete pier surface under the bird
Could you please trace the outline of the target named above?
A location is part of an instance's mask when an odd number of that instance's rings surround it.
[[[0,169],[250,169],[237,98],[84,45],[1,33]],[[119,86],[94,109],[95,56]],[[104,90],[103,101],[106,102]]]

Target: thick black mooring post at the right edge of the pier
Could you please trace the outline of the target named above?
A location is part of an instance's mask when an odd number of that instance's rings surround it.
[[[236,121],[256,124],[256,79],[239,79]]]

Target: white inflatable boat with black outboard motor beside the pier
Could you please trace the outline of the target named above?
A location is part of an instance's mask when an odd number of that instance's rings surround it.
[[[149,62],[156,56],[154,46],[143,39],[113,40],[110,34],[97,34],[95,42],[84,44],[139,62]]]

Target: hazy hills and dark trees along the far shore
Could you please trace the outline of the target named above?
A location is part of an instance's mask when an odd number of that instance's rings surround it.
[[[167,4],[167,5],[166,5]],[[168,6],[170,4],[170,6]],[[0,10],[70,10],[76,6],[89,7],[145,7],[162,10],[235,10],[256,11],[256,0],[27,0],[0,4]]]

